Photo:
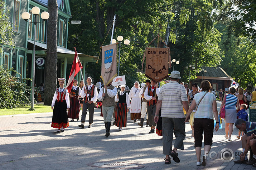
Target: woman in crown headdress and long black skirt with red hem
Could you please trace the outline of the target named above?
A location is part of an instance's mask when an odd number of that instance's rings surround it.
[[[58,78],[59,88],[56,89],[52,99],[52,125],[51,127],[57,128],[57,133],[64,132],[68,127],[68,113],[69,109],[69,96],[68,90],[64,88],[65,78]]]

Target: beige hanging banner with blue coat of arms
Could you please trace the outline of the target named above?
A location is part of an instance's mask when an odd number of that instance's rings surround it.
[[[102,46],[101,79],[104,85],[111,83],[116,73],[116,44]]]

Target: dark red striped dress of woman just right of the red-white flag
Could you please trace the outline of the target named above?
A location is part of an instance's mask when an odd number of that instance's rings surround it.
[[[79,87],[77,86],[76,89],[72,86],[71,94],[74,93],[78,95],[79,93]],[[81,109],[80,101],[78,99],[78,96],[69,97],[70,100],[70,108],[68,110],[68,118],[71,119],[78,119],[79,118],[79,112]]]

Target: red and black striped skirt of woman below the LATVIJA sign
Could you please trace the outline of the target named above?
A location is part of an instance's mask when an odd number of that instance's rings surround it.
[[[127,121],[126,103],[116,103],[115,119],[116,119],[117,127],[126,128],[126,121]]]

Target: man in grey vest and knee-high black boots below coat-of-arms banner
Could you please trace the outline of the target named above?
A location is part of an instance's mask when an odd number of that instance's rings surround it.
[[[104,89],[106,92],[104,93]],[[115,96],[117,93],[117,88],[112,86],[112,82],[108,85],[105,85],[101,88],[98,94],[98,100],[102,101],[102,114],[104,118],[106,134],[108,137],[110,135],[110,126],[111,126],[111,118],[115,108]]]

